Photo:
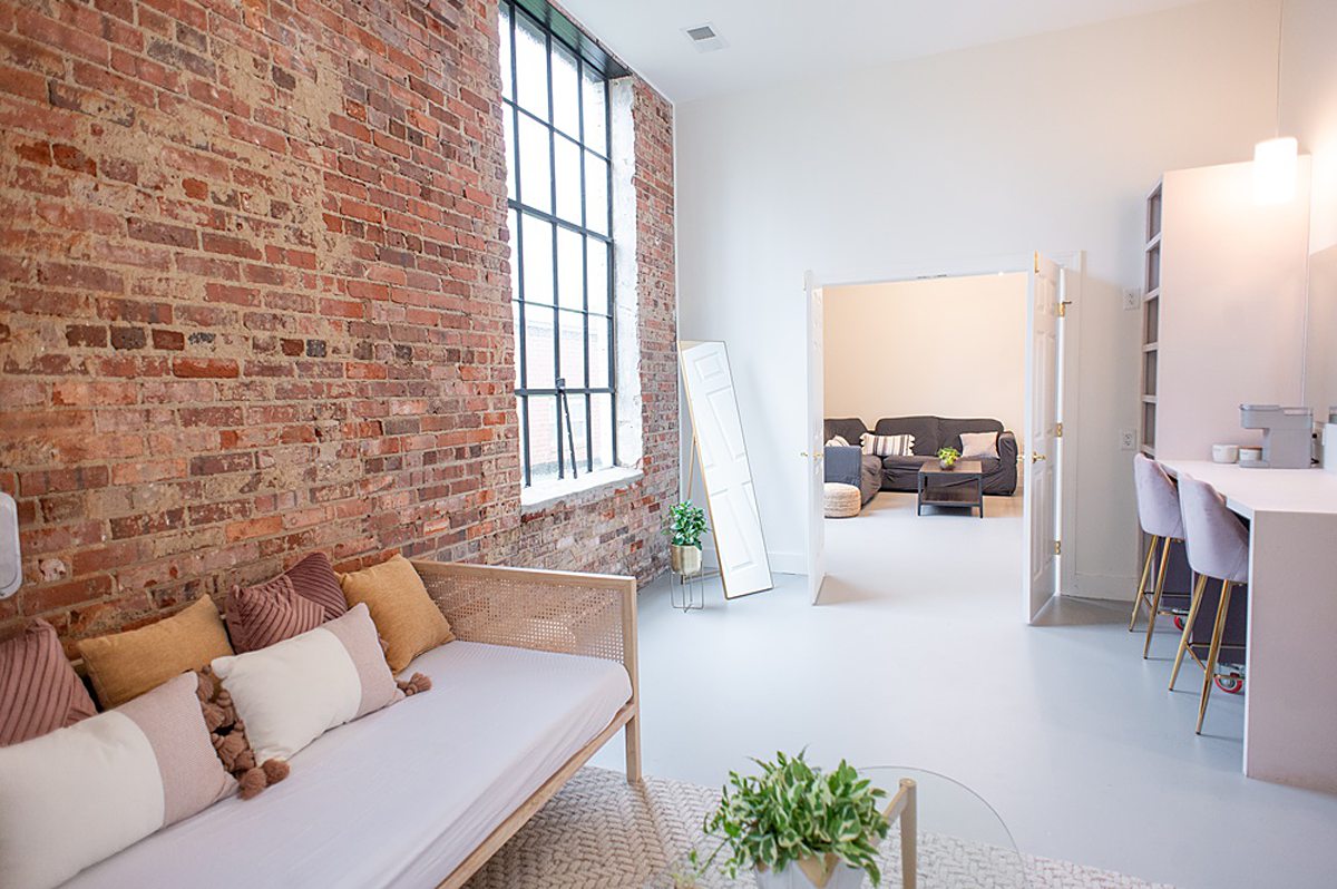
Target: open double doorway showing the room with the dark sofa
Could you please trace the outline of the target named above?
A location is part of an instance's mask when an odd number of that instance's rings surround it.
[[[1063,318],[1080,291],[1083,257],[1071,254],[1063,265],[1040,254],[992,267],[963,265],[959,274],[874,282],[825,283],[809,275],[814,603],[822,600],[828,557],[849,551],[852,540],[860,541],[858,552],[900,543],[908,553],[955,561],[971,556],[953,548],[964,547],[967,535],[981,553],[1004,553],[993,571],[1017,578],[1027,622],[1058,592]],[[955,472],[939,472],[941,448],[960,455]],[[862,508],[826,519],[829,481],[861,483]],[[924,491],[935,483],[955,485],[945,500],[960,503],[933,504]],[[834,493],[845,507],[853,499],[849,489]],[[984,517],[988,531],[961,524],[964,516]],[[961,540],[951,540],[952,523]],[[837,535],[832,547],[828,533]],[[838,574],[840,565],[830,564]],[[826,600],[833,599],[838,591]]]

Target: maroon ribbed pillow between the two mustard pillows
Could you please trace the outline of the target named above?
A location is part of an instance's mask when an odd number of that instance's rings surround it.
[[[258,651],[314,630],[348,611],[329,556],[313,552],[254,587],[233,587],[227,596],[227,632],[233,650]]]

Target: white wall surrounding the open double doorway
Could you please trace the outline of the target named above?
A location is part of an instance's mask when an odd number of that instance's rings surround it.
[[[806,544],[805,269],[877,281],[1086,250],[1066,590],[1131,596],[1118,432],[1136,425],[1138,314],[1119,291],[1139,286],[1157,176],[1270,134],[1275,11],[1218,0],[677,107],[681,336],[729,341],[777,563]]]

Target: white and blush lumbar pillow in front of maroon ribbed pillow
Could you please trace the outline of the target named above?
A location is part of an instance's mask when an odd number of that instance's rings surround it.
[[[287,759],[322,734],[404,698],[366,603],[277,644],[214,658],[255,762]]]

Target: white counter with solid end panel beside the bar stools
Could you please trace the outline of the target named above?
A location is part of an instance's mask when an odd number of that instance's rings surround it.
[[[1161,463],[1250,523],[1245,774],[1337,793],[1337,475]]]

